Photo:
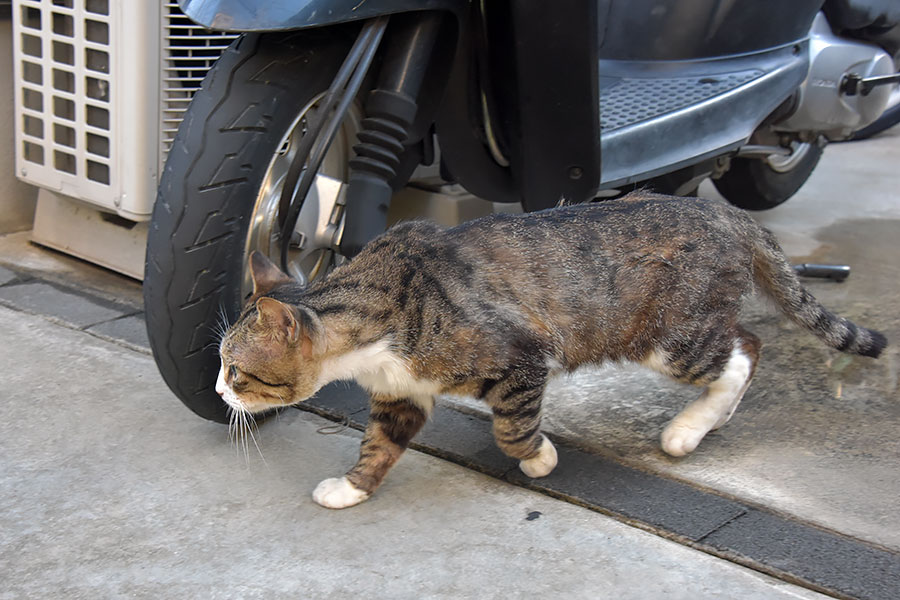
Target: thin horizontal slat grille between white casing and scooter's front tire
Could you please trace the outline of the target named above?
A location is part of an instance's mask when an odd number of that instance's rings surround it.
[[[185,17],[176,2],[165,2],[160,166],[172,147],[191,97],[200,89],[207,71],[236,37],[237,34],[203,29]]]

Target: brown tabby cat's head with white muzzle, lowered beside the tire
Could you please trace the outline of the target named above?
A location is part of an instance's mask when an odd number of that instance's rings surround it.
[[[318,391],[324,331],[311,309],[267,296],[296,282],[263,254],[250,256],[250,273],[253,294],[219,345],[216,391],[233,409],[256,413]]]

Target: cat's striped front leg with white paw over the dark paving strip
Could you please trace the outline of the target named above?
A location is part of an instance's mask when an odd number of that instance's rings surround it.
[[[497,446],[518,458],[519,468],[529,477],[549,475],[557,463],[556,448],[540,431],[547,375],[543,364],[520,367],[505,377],[485,380],[480,394],[493,413]]]

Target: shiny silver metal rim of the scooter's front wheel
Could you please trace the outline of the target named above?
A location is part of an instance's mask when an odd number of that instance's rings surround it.
[[[278,205],[281,190],[300,140],[316,116],[317,104],[324,96],[325,92],[322,92],[299,111],[266,167],[250,214],[242,262],[242,298],[246,298],[253,290],[250,270],[246,268],[250,254],[259,250],[275,262],[280,259]],[[289,274],[302,284],[323,276],[341,261],[334,245],[343,226],[343,200],[340,191],[343,187],[341,184],[346,183],[349,177],[349,160],[356,134],[360,130],[360,120],[360,109],[354,104],[347,111],[347,116],[316,173],[316,182],[304,199],[288,251]]]

